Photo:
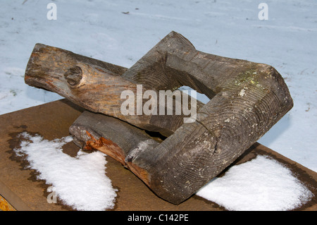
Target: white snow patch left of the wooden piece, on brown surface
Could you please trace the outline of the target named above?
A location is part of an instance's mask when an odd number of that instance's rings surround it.
[[[62,149],[73,140],[70,136],[51,141],[28,133],[20,137],[26,140],[15,149],[16,154],[25,155],[30,169],[37,170],[39,179],[54,186],[56,197],[65,205],[81,211],[114,207],[117,190],[105,174],[106,154],[80,150],[77,157],[70,157]]]

